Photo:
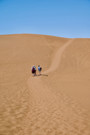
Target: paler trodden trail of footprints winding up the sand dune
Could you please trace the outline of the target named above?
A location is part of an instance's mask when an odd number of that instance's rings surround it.
[[[49,70],[55,71],[69,40],[56,52]],[[24,134],[27,135],[90,135],[88,117],[77,103],[64,93],[59,96],[42,83],[42,77],[28,79],[30,93],[29,111],[25,121]]]

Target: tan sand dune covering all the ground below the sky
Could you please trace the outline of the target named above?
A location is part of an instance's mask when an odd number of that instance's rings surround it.
[[[90,39],[0,35],[0,135],[90,135]]]

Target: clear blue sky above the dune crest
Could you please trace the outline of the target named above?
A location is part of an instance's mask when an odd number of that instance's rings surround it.
[[[90,38],[90,0],[0,0],[0,35]]]

